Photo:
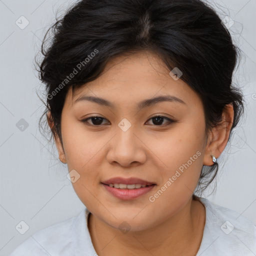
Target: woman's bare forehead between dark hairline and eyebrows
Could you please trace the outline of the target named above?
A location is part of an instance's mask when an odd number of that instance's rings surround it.
[[[172,95],[194,105],[198,95],[183,80],[174,80],[169,71],[151,52],[125,54],[109,60],[99,77],[75,89],[73,95],[69,88],[69,94],[72,103],[83,95],[107,98],[116,104]]]

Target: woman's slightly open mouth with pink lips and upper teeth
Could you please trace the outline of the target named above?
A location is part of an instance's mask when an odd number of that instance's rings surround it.
[[[122,200],[136,199],[149,192],[156,183],[138,179],[115,177],[101,182],[106,191]]]

